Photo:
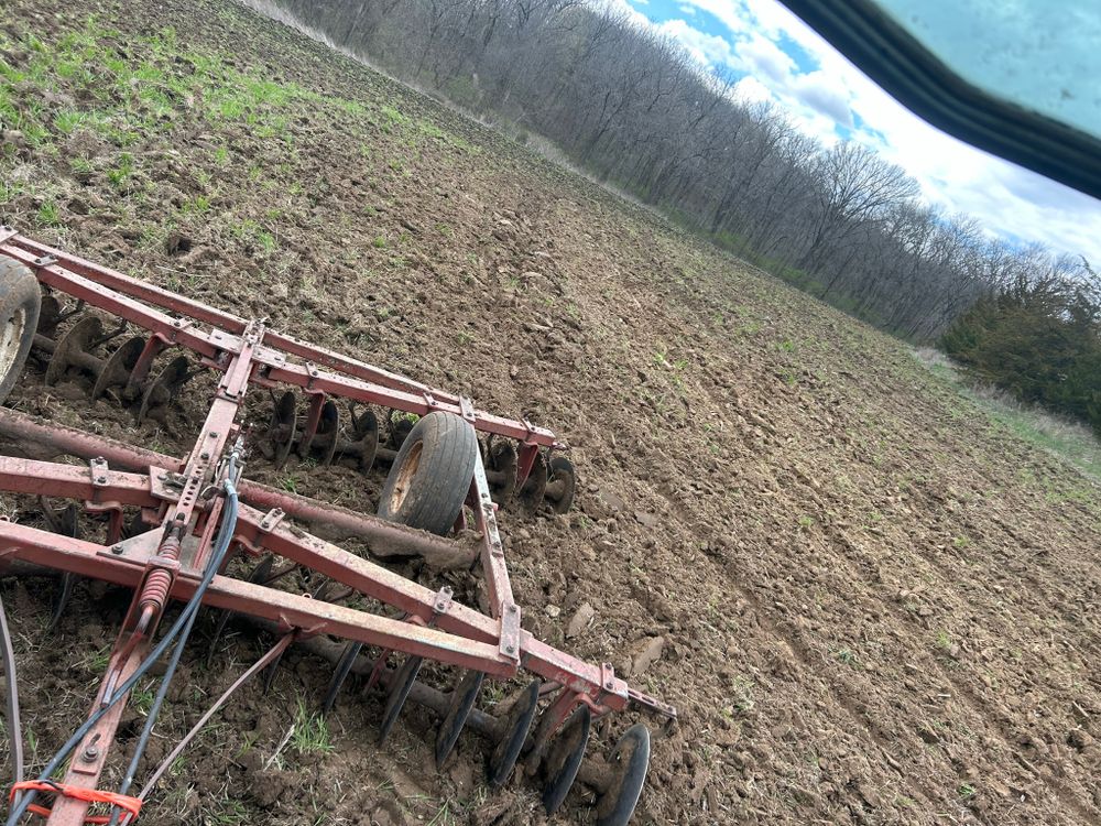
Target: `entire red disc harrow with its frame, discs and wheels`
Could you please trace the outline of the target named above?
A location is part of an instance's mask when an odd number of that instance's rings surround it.
[[[128,404],[138,423],[171,405],[196,372],[205,368],[218,377],[205,421],[182,457],[0,407],[0,438],[14,446],[7,453],[15,454],[0,455],[0,491],[39,497],[52,528],[0,521],[0,568],[63,575],[58,611],[73,576],[133,590],[90,716],[36,780],[22,776],[14,662],[7,628],[0,629],[15,773],[9,824],[21,823],[29,812],[52,826],[138,817],[164,765],[138,796],[130,795],[130,786],[200,606],[221,611],[216,639],[232,612],[274,631],[279,642],[199,726],[261,667],[274,674],[286,648],[298,643],[334,663],[324,710],[331,708],[351,673],[364,674],[369,688],[385,689],[380,741],[413,699],[440,717],[438,764],[469,727],[492,745],[492,785],[506,782],[525,756],[527,773],[543,780],[548,812],[580,779],[597,792],[598,823],[630,819],[648,763],[648,730],[642,724],[629,728],[604,760],[585,757],[591,721],[629,706],[667,718],[675,718],[676,710],[631,688],[610,663],[585,662],[522,628],[498,529],[494,497],[509,501],[523,496],[554,510],[569,508],[574,469],[562,455],[566,446],[550,431],[486,413],[461,395],[305,344],[261,320],[129,278],[8,227],[0,227],[0,324],[6,325],[0,400],[32,350],[45,363],[46,383],[76,373],[86,383],[94,381],[92,398],[109,395]],[[29,279],[36,282],[33,292]],[[103,315],[118,319],[117,326],[105,326]],[[174,355],[181,351],[187,355]],[[246,399],[257,388],[287,391],[259,437],[242,422]],[[308,399],[304,415],[288,389]],[[341,423],[336,400],[402,414],[389,420],[392,447],[382,444],[374,413],[357,415],[352,406],[350,422]],[[242,471],[252,449],[276,466],[292,452],[319,455],[321,463],[350,456],[364,470],[379,461],[391,464],[382,515],[250,481]],[[70,461],[52,460],[61,456]],[[81,464],[72,464],[73,458]],[[432,474],[443,479],[454,476],[454,468],[460,468],[458,487],[453,485],[458,498],[429,501],[429,494],[446,487],[444,481],[436,485]],[[55,511],[46,498],[78,504]],[[79,536],[77,511],[91,514],[98,541]],[[372,558],[299,524],[355,537]],[[469,530],[453,533],[453,528]],[[227,575],[229,562],[239,555],[260,559],[247,579]],[[395,556],[421,556],[429,569],[480,567],[490,612],[461,605],[448,587],[426,587],[373,561]],[[294,569],[313,572],[323,585],[306,594],[274,587]],[[345,605],[349,599],[366,599],[372,609]],[[168,624],[173,601],[183,609],[165,631],[161,626]],[[117,792],[100,791],[128,694],[166,655],[161,691],[130,768]],[[391,660],[397,661],[394,666]],[[425,660],[457,670],[450,692],[417,680]],[[521,673],[532,680],[505,711],[493,716],[475,708],[486,677],[509,680]],[[52,807],[44,804],[47,796]],[[89,814],[91,806],[96,813]]]

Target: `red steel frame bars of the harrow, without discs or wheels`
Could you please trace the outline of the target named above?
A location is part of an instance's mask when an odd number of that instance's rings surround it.
[[[221,510],[220,499],[208,502],[201,493],[219,482],[219,475],[226,472],[220,463],[230,441],[238,434],[236,420],[250,383],[296,385],[316,394],[317,401],[325,394],[333,394],[422,415],[433,411],[459,415],[478,430],[521,441],[522,476],[526,476],[539,446],[565,447],[549,431],[534,427],[526,421],[515,422],[475,411],[460,396],[430,390],[403,377],[271,333],[255,322],[246,322],[67,256],[4,227],[0,227],[0,253],[34,269],[43,284],[150,330],[152,338],[146,345],[150,355],[155,355],[163,346],[181,345],[195,351],[207,367],[224,373],[198,438],[184,460],[73,428],[39,423],[12,411],[0,411],[0,434],[36,441],[58,453],[89,459],[85,467],[0,456],[0,490],[78,499],[84,501],[86,509],[94,511],[110,509],[121,513],[123,507],[137,507],[146,519],[160,522],[151,531],[107,547],[0,521],[0,559],[18,558],[134,589],[131,610],[97,702],[138,667],[167,600],[188,599],[195,593],[212,553],[215,524]],[[173,318],[142,302],[189,317]],[[195,320],[216,326],[204,330]],[[285,354],[306,361],[304,365],[288,362]],[[337,372],[321,370],[317,363],[327,365]],[[118,470],[109,463],[148,472]],[[292,529],[281,520],[284,513],[317,520],[336,517],[353,533],[384,544],[402,546],[404,543],[411,550],[432,550],[438,545],[435,550],[446,554],[459,543],[364,514],[341,512],[341,509],[283,494],[247,480],[241,480],[241,494],[246,501],[251,498],[257,503],[271,504],[272,509],[263,513],[240,504],[233,536],[240,545],[284,556],[400,609],[406,619],[418,618],[421,622],[353,610],[225,576],[215,577],[204,595],[204,604],[274,621],[299,635],[335,634],[385,650],[477,669],[498,677],[512,676],[524,667],[563,687],[549,715],[554,725],[582,700],[598,714],[621,709],[633,700],[675,715],[672,707],[629,688],[615,677],[609,663],[585,663],[521,629],[520,608],[513,599],[504,546],[480,454],[468,502],[481,535],[480,553],[491,617],[450,600],[446,609],[440,610],[438,595],[428,588]],[[66,773],[66,784],[95,787],[106,761],[107,747],[115,739],[121,710],[122,704],[119,704],[105,715],[77,747]],[[86,802],[58,797],[50,820],[61,826],[76,826],[83,822],[87,808]]]

